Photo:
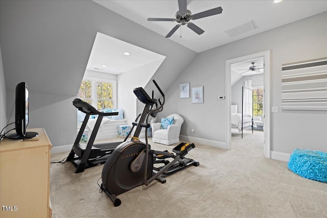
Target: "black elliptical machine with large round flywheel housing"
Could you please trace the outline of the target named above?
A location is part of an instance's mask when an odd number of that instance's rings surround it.
[[[157,105],[157,100],[153,96],[150,98],[142,87],[133,90],[138,100],[145,104],[141,118],[138,123],[133,123],[133,126],[137,127],[131,140],[123,142],[115,148],[102,169],[101,189],[106,192],[115,207],[121,205],[121,200],[116,198],[121,193],[143,184],[149,185],[154,180],[165,183],[166,179],[163,177],[168,176],[165,173],[173,174],[186,167],[199,165],[199,162],[184,157],[195,148],[193,143],[180,143],[173,149],[176,155],[167,151],[150,149],[147,138],[147,131],[150,127],[148,118],[150,115],[162,111],[165,104],[165,94],[158,84],[154,80],[152,81],[162,95],[163,102],[158,100],[160,106],[152,109],[153,105]],[[142,128],[145,128],[146,143],[141,142],[138,138]],[[164,160],[162,161],[165,163],[164,166],[154,168],[153,164],[160,162],[155,157],[173,158],[173,160]]]

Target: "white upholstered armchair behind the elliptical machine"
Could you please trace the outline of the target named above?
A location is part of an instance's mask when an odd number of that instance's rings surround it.
[[[174,124],[168,126],[167,129],[161,129],[161,123],[151,124],[153,142],[167,144],[168,146],[179,142],[180,128],[184,119],[177,113],[167,116],[167,118],[169,117],[174,117]]]

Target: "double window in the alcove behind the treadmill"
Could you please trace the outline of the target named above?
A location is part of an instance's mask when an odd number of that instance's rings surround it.
[[[84,78],[77,98],[102,111],[103,108],[115,108],[116,81],[97,78]]]

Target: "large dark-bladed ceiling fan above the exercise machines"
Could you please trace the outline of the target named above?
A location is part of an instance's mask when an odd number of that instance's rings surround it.
[[[196,26],[193,22],[189,22],[189,21],[216,15],[216,14],[221,14],[221,12],[223,11],[221,7],[218,7],[192,15],[191,11],[186,9],[186,4],[187,4],[186,0],[178,0],[179,11],[176,12],[175,15],[176,18],[148,18],[147,20],[148,21],[177,21],[179,24],[176,25],[167,34],[166,38],[171,37],[181,25],[186,25],[188,28],[196,32],[198,35],[201,35],[202,33],[204,33],[204,30]]]

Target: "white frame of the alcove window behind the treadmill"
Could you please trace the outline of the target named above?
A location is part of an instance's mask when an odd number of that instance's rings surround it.
[[[91,81],[91,100],[92,100],[92,106],[98,109],[98,99],[97,97],[97,83],[103,82],[103,83],[112,83],[112,108],[117,108],[117,81],[115,80],[107,80],[102,78],[95,78],[95,77],[83,77],[83,80],[89,80]],[[83,82],[82,80],[82,82]],[[82,83],[81,83],[82,84]],[[79,89],[78,89],[79,90]],[[80,98],[83,100],[83,98]]]

